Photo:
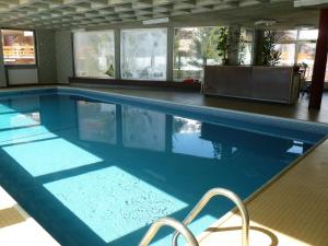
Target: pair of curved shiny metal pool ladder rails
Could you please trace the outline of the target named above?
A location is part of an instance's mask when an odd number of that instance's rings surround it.
[[[223,196],[232,200],[242,215],[242,246],[249,246],[249,215],[248,211],[243,203],[242,199],[234,192],[224,188],[213,188],[210,189],[206,195],[200,199],[200,201],[195,206],[195,208],[189,212],[186,219],[181,222],[172,219],[172,218],[162,218],[155,221],[149,231],[143,236],[139,246],[148,246],[153,237],[156,235],[157,231],[164,226],[171,226],[176,231],[172,237],[172,246],[177,246],[177,239],[180,234],[186,238],[188,246],[199,246],[196,237],[192,235],[190,230],[187,227],[195,218],[202,211],[202,209],[209,203],[209,201],[216,196]]]

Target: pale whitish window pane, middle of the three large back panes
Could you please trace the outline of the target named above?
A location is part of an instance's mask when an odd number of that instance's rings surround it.
[[[121,78],[166,80],[167,30],[121,31]]]

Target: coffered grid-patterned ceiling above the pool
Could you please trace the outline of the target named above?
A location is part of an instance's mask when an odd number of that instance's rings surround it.
[[[140,25],[140,21],[166,16],[178,25],[250,26],[273,19],[278,26],[286,26],[316,24],[317,15],[315,9],[294,8],[294,0],[0,0],[0,26],[15,28]]]

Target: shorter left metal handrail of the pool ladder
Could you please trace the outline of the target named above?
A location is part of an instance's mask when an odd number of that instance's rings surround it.
[[[151,227],[148,230],[148,232],[139,243],[139,246],[148,246],[154,238],[159,230],[164,225],[171,226],[175,229],[179,234],[183,234],[188,243],[188,246],[199,246],[189,229],[187,229],[181,222],[167,216],[159,219],[151,225]]]

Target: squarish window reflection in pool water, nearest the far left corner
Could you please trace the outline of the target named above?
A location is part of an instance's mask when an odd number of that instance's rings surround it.
[[[116,143],[116,105],[78,102],[79,136],[84,141]]]

